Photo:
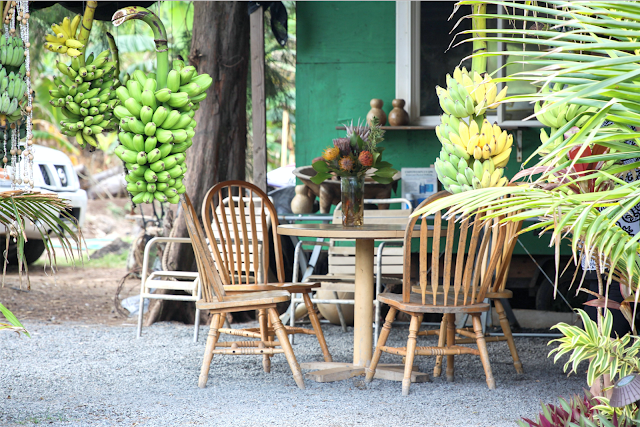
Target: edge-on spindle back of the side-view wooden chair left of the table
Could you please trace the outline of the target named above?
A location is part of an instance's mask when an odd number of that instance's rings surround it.
[[[196,210],[186,193],[180,197],[180,201],[184,210],[187,231],[193,245],[193,252],[196,256],[196,264],[198,265],[202,286],[202,297],[206,302],[224,301],[224,287],[211,258],[207,239],[200,226]]]

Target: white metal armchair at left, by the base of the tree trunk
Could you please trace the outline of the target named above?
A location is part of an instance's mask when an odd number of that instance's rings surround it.
[[[202,289],[200,278],[196,271],[153,271],[149,273],[149,254],[151,248],[157,243],[189,243],[191,239],[187,237],[154,237],[147,242],[144,248],[142,261],[142,279],[140,280],[140,309],[138,313],[137,337],[142,335],[142,317],[144,315],[145,299],[163,299],[172,301],[191,301],[194,304],[201,299]],[[174,280],[172,280],[174,279]],[[154,289],[167,289],[171,291],[184,291],[190,295],[156,294]],[[193,342],[198,341],[198,331],[200,328],[200,310],[196,308],[195,326],[193,331]]]

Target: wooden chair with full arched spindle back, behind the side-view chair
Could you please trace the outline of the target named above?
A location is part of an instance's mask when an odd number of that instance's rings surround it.
[[[285,283],[282,246],[277,234],[278,215],[269,197],[248,182],[221,182],[205,196],[202,218],[225,289],[228,292],[285,290],[302,294],[313,329],[286,327],[286,333],[315,335],[325,362],[331,362],[320,320],[309,296],[320,284]],[[273,240],[275,283],[269,281],[269,233]],[[256,332],[256,329],[247,331]],[[273,334],[271,329],[269,334]],[[268,369],[268,355],[264,363]]]

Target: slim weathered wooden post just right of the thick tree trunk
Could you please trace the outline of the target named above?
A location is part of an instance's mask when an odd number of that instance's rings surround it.
[[[251,105],[253,108],[253,183],[267,190],[267,116],[264,89],[264,11],[250,16]]]

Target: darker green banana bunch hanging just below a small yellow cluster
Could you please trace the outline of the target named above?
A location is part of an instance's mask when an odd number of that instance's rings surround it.
[[[60,121],[62,133],[75,137],[81,147],[87,144],[97,147],[97,134],[117,128],[113,109],[120,103],[116,96],[120,81],[115,61],[109,61],[108,50],[95,57],[89,55],[85,64],[82,66],[77,57],[70,65],[56,61],[63,77],[54,79],[58,88],[49,91],[49,103],[59,107],[65,116]]]

